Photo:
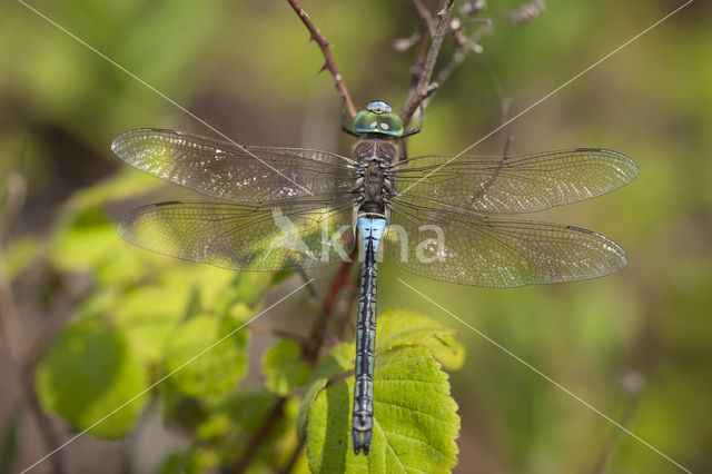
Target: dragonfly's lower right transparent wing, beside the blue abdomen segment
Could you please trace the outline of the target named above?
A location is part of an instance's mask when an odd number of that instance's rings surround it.
[[[578,227],[398,201],[392,203],[384,241],[386,257],[407,271],[486,287],[595,278],[627,263],[614,241]]]

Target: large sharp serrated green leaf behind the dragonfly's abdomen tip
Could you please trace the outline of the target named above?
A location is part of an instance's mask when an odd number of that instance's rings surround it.
[[[354,379],[329,385],[308,414],[312,472],[449,472],[457,462],[457,405],[429,349],[404,346],[376,357],[374,436],[368,456],[352,448]]]

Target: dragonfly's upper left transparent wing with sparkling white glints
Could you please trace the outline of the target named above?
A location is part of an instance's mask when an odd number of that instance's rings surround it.
[[[353,161],[339,155],[299,148],[238,147],[155,128],[118,136],[111,150],[150,175],[234,201],[342,197],[356,179]]]

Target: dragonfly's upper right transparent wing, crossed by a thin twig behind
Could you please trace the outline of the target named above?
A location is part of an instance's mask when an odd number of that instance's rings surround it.
[[[513,157],[423,156],[395,165],[396,192],[477,213],[518,214],[620,188],[637,175],[625,155],[576,148]]]

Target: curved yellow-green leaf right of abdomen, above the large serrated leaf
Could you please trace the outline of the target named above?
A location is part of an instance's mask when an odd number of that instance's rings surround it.
[[[427,316],[390,310],[378,317],[376,354],[398,345],[418,344],[429,347],[446,368],[457,369],[465,361],[465,348],[455,340],[456,334]]]

